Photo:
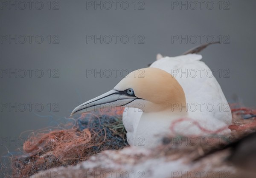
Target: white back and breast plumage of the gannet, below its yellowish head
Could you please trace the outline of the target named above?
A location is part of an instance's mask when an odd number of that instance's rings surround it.
[[[206,136],[215,133],[228,135],[230,130],[227,126],[231,124],[232,119],[230,107],[217,80],[209,67],[200,61],[201,59],[202,56],[198,54],[163,57],[155,61],[150,67],[160,68],[177,79],[185,93],[188,107],[187,117],[199,123],[202,128],[212,131],[206,133],[205,130],[202,131],[191,121],[183,121],[175,125],[175,134]],[[169,122],[166,122],[167,126],[154,130],[158,123],[152,121],[150,124],[150,119],[141,120],[142,113],[136,108],[129,108],[123,113],[123,124],[128,132],[129,144],[134,145],[134,141],[131,140],[138,140],[140,137],[145,139],[146,145],[157,144],[159,141],[149,143],[150,139],[159,133],[159,129],[163,130],[163,134],[166,134],[164,131],[169,129]],[[158,117],[161,116],[158,115]],[[224,129],[219,130],[222,128]],[[145,135],[146,130],[150,133]]]

